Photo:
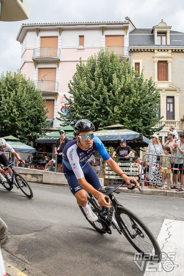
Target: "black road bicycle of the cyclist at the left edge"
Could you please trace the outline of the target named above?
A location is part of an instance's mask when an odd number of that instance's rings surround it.
[[[22,161],[21,159],[17,160],[17,161]],[[17,189],[20,188],[20,190],[29,198],[33,197],[33,192],[28,184],[28,182],[18,173],[15,171],[15,169],[13,168],[13,165],[17,162],[9,162],[9,165],[4,169],[4,171],[8,171],[8,169],[10,168],[12,171],[12,177],[11,179],[8,179],[7,175],[3,174],[3,176],[6,178],[6,182],[0,182],[3,187],[9,191],[11,191],[13,189],[13,185],[15,184],[15,186],[17,187]],[[2,167],[1,167],[2,168]]]

